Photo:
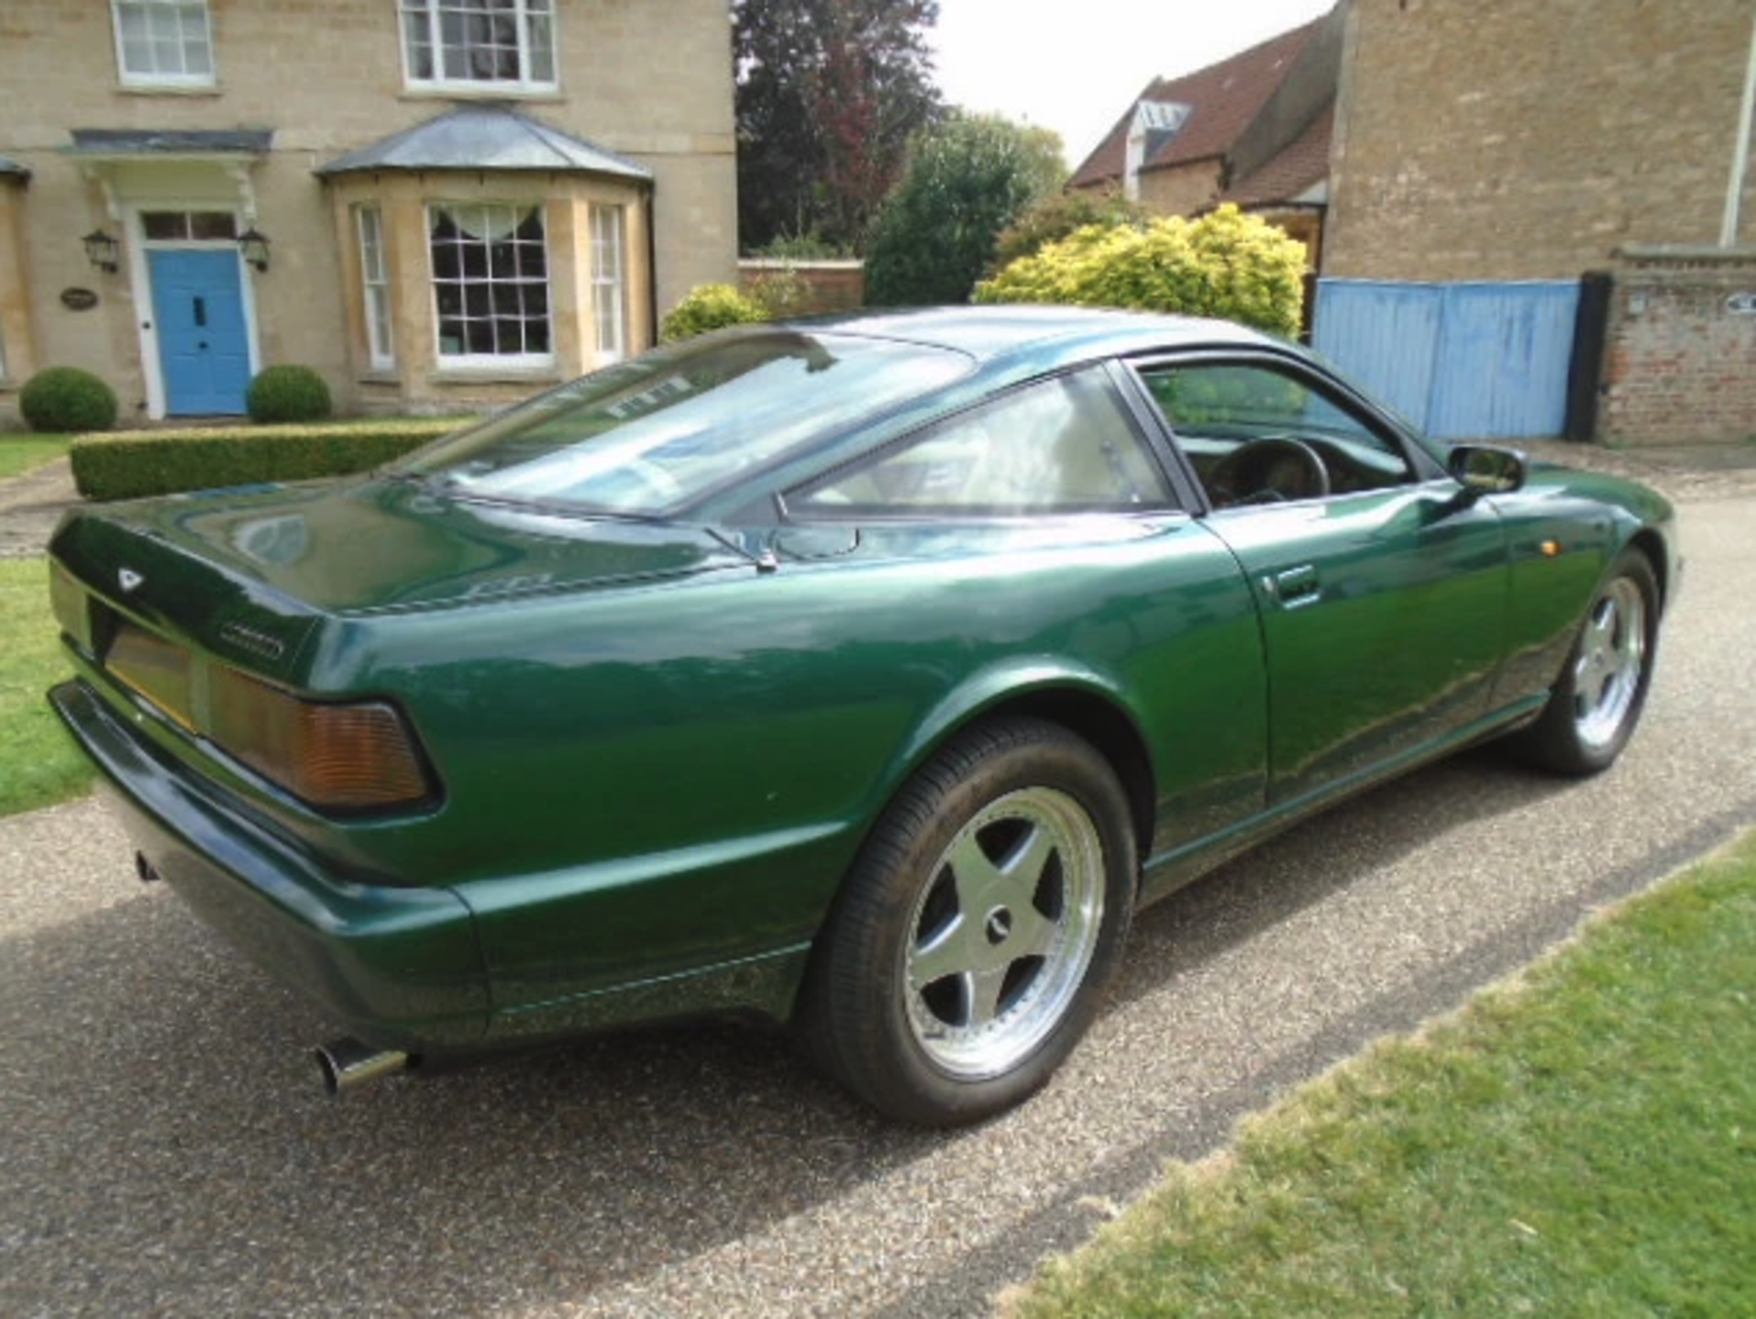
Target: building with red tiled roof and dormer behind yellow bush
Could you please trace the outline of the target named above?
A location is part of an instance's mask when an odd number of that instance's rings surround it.
[[[1317,268],[1343,25],[1338,5],[1215,65],[1154,79],[1068,186],[1119,189],[1162,216],[1234,202],[1299,239]]]

